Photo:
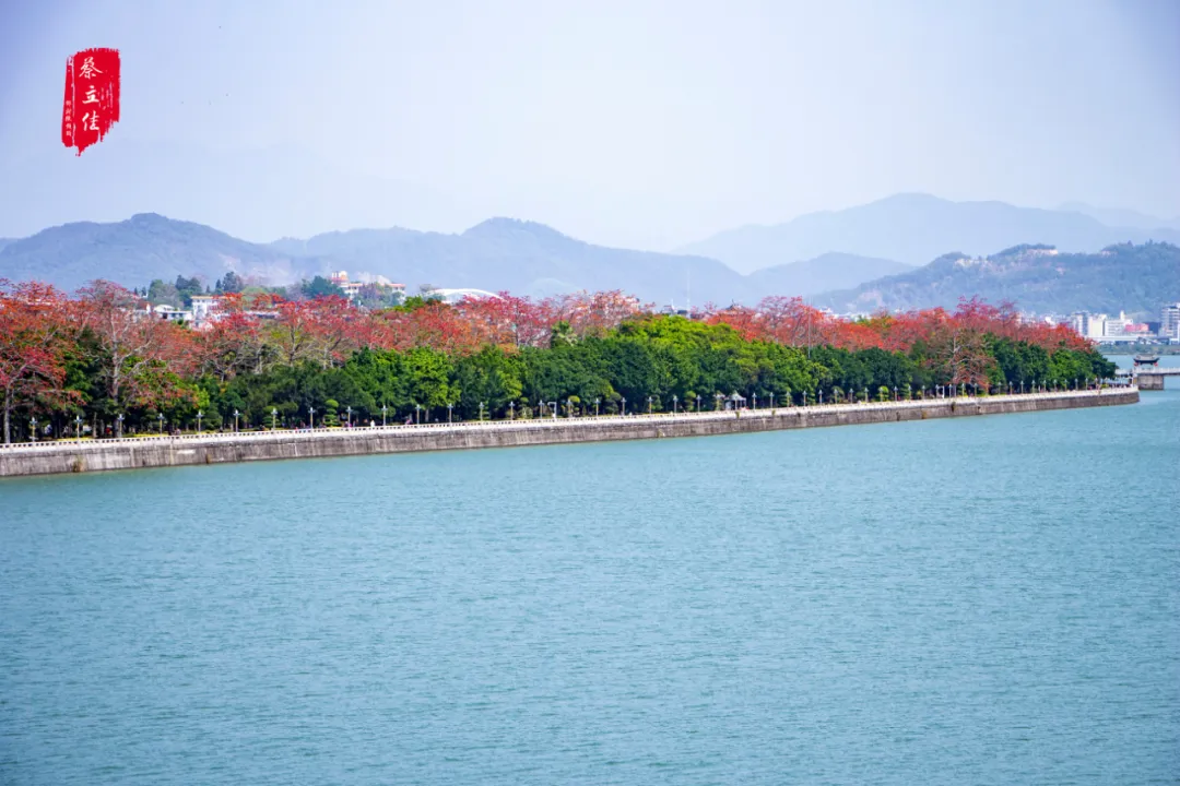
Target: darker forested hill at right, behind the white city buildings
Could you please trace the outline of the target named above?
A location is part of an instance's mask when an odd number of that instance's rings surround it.
[[[827,292],[815,305],[837,312],[953,308],[961,296],[1012,300],[1023,311],[1115,312],[1156,317],[1180,299],[1180,247],[1171,243],[1112,245],[1097,253],[1061,253],[1021,245],[990,257],[948,253],[924,267]]]

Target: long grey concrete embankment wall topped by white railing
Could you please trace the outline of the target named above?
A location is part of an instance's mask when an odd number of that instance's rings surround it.
[[[512,448],[607,440],[712,436],[779,429],[919,421],[937,417],[1108,407],[1139,401],[1135,388],[995,398],[791,407],[774,410],[599,418],[392,425],[376,429],[189,435],[0,448],[0,477],[148,467],[323,458],[421,450]]]

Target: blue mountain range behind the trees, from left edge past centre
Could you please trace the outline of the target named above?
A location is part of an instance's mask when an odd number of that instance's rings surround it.
[[[622,289],[661,304],[811,296],[907,270],[887,259],[826,255],[741,276],[715,259],[608,249],[543,224],[493,218],[447,235],[406,229],[328,232],[307,239],[248,243],[202,224],[140,213],[113,224],[55,226],[0,249],[0,277],[40,278],[72,290],[92,278],[143,286],[153,278],[203,276],[210,284],[235,271],[271,284],[346,270],[406,284],[509,290],[544,297]]]

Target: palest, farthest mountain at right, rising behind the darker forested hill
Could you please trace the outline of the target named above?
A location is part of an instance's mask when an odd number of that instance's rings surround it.
[[[1021,243],[1048,243],[1068,252],[1093,252],[1116,243],[1180,243],[1176,226],[1110,226],[1094,216],[1140,224],[1150,217],[1074,206],[1092,214],[897,194],[847,210],[808,213],[776,226],[727,230],[678,251],[720,259],[748,273],[831,251],[924,265],[951,250],[984,255]]]

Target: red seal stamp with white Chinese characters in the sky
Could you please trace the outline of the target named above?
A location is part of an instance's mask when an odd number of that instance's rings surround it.
[[[119,119],[119,51],[83,49],[66,60],[66,97],[61,105],[61,144],[78,154]]]

